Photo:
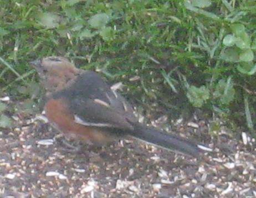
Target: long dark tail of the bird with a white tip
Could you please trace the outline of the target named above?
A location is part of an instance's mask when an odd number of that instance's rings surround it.
[[[156,128],[147,127],[140,123],[134,124],[134,128],[135,130],[130,133],[132,137],[154,144],[158,147],[192,155],[195,158],[199,158],[199,153],[202,150],[212,151],[211,148],[208,148],[203,144],[197,144],[188,139],[161,132]]]

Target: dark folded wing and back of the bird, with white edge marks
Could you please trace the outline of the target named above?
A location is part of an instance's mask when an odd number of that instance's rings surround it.
[[[130,122],[137,122],[124,97],[93,71],[83,71],[65,92],[79,124],[131,130]]]

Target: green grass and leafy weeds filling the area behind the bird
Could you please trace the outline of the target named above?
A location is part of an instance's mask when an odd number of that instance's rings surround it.
[[[2,0],[2,94],[33,106],[40,91],[28,62],[62,55],[122,81],[146,112],[201,108],[254,132],[255,1],[190,2]]]

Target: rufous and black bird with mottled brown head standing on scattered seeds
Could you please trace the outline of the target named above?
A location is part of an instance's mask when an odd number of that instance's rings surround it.
[[[130,103],[95,71],[78,69],[62,56],[48,56],[30,64],[45,88],[45,116],[68,139],[101,146],[132,137],[194,158],[211,150],[140,123]]]

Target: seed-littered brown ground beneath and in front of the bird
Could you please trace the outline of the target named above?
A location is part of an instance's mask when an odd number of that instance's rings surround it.
[[[75,152],[41,116],[13,118],[0,133],[0,197],[256,196],[255,139],[245,133],[213,141],[202,121],[181,125],[214,148],[196,160],[131,139]]]

